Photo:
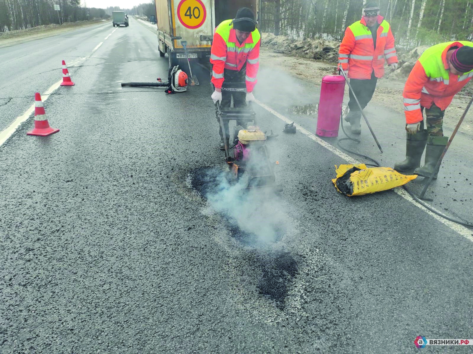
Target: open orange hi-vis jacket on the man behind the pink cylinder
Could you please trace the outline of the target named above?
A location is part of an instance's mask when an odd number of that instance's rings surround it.
[[[348,70],[350,79],[371,79],[371,73],[381,78],[384,75],[385,58],[388,65],[398,62],[394,48],[394,36],[389,23],[382,16],[377,18],[376,48],[373,35],[364,18],[349,26],[345,31],[338,51],[338,66]]]

